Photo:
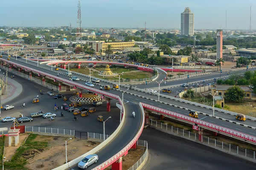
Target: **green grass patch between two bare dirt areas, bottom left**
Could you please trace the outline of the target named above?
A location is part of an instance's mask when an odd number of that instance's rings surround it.
[[[30,134],[26,142],[20,146],[11,161],[5,162],[4,166],[7,170],[27,170],[24,165],[27,163],[27,159],[35,156],[38,153],[46,150],[48,142],[35,141],[37,134]]]

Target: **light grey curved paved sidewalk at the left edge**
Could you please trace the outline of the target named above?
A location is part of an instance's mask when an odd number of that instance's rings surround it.
[[[23,91],[22,85],[15,81],[15,79],[8,78],[8,92],[7,94],[3,94],[1,98],[1,104],[4,105],[7,102],[15,99],[17,96],[21,94]]]

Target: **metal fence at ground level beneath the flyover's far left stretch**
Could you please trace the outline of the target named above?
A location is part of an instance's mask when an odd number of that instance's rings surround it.
[[[8,72],[10,72],[12,74],[15,74],[17,76],[23,77],[23,78],[28,79],[30,81],[36,82],[36,83],[38,83],[38,84],[40,84],[40,85],[42,85],[44,87],[53,89],[54,91],[58,91],[58,86],[52,85],[49,82],[45,82],[44,85],[43,85],[43,81],[41,79],[38,79],[38,78],[35,78],[35,77],[29,78],[28,74],[24,74],[24,73],[22,73],[20,71],[12,69],[12,68],[4,67],[3,65],[0,65],[0,67],[3,68],[3,69],[6,69]]]

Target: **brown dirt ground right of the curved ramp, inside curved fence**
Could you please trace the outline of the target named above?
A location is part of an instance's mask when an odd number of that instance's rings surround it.
[[[122,170],[128,170],[133,164],[135,164],[145,152],[145,147],[137,147],[137,149],[131,149],[126,156],[122,157]],[[111,170],[111,166],[105,170]]]

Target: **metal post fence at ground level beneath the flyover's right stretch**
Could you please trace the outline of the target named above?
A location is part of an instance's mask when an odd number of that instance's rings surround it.
[[[168,126],[166,123],[157,122],[156,120],[152,120],[152,119],[150,119],[149,124],[151,125],[151,127],[154,127],[157,130],[163,131],[165,133],[179,136],[194,142],[200,142],[201,144],[218,149],[222,152],[229,153],[229,154],[256,162],[254,150],[250,150],[244,147],[239,147],[230,143],[224,143],[223,141],[218,141],[216,139],[212,139],[212,138],[209,138],[208,136],[203,136],[203,135],[202,135],[201,141],[197,141],[198,139],[197,133],[193,133],[189,130],[184,130],[179,127]]]

